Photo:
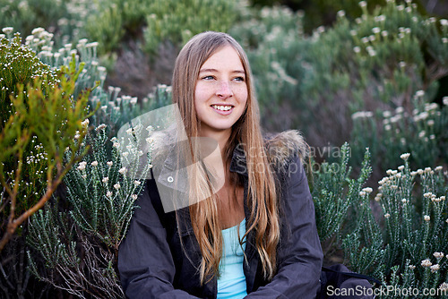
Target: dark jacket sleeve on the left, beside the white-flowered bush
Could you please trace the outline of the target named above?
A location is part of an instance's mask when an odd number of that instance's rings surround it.
[[[148,185],[136,202],[140,208],[135,210],[118,250],[118,271],[126,298],[197,298],[173,287],[176,268]]]

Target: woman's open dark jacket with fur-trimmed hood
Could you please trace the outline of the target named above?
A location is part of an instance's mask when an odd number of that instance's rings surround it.
[[[254,234],[247,236],[244,263],[246,298],[315,298],[320,287],[323,253],[314,220],[314,204],[299,150],[297,132],[282,132],[266,142],[270,163],[280,182],[280,243],[278,272],[266,281],[254,248]],[[247,193],[246,158],[235,149],[230,171],[242,175]],[[148,180],[125,240],[120,245],[118,269],[128,298],[216,298],[217,280],[201,286],[196,270],[201,252],[189,222],[188,209],[163,213],[154,179]],[[245,206],[246,219],[250,211]],[[159,217],[160,215],[160,217]],[[178,230],[180,230],[180,240]],[[185,248],[182,249],[183,244]]]

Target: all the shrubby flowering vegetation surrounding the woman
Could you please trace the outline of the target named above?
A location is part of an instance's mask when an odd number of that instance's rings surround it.
[[[1,296],[124,297],[116,251],[157,129],[118,132],[168,105],[203,30],[245,47],[263,129],[306,136],[325,263],[447,290],[447,16],[437,0],[0,0]]]

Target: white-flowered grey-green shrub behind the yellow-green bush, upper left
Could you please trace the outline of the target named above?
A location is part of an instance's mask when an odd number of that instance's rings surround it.
[[[67,43],[64,47],[56,49],[52,38],[53,35],[47,30],[36,28],[32,30],[30,36],[25,38],[25,44],[37,53],[40,61],[50,65],[54,70],[61,65],[68,65],[73,55],[77,65],[84,64],[82,73],[76,81],[74,96],[76,97],[82,90],[93,87],[95,82],[99,82],[98,88],[91,92],[89,98],[90,110],[98,108],[95,115],[90,117],[90,124],[95,127],[107,124],[110,137],[116,135],[118,129],[134,117],[142,115],[149,109],[168,105],[169,96],[161,97],[163,93],[161,90],[167,87],[161,86],[159,90],[154,91],[159,95],[156,97],[157,103],[153,103],[152,100],[143,100],[141,105],[135,97],[120,95],[120,88],[109,86],[105,89],[107,70],[99,64],[98,42],[89,42],[87,38],[82,38],[76,44]],[[155,94],[150,94],[148,98],[154,98]]]

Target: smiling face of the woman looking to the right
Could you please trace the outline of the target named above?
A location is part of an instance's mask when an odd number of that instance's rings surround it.
[[[222,47],[202,64],[194,89],[194,108],[202,136],[230,132],[244,113],[246,101],[243,64],[233,47]]]

